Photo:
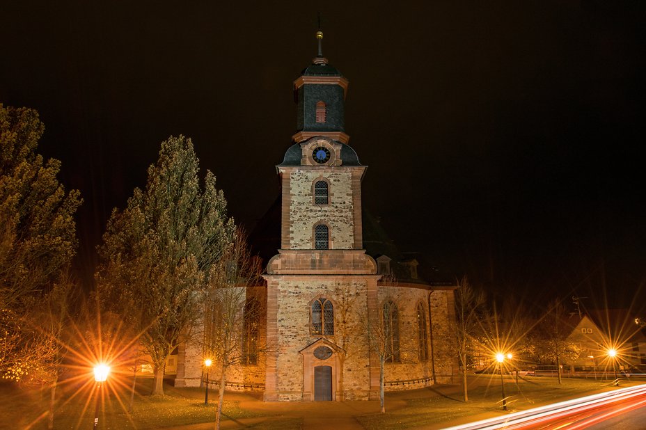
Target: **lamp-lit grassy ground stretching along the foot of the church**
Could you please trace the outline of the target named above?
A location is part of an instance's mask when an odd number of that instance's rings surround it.
[[[409,392],[386,394],[386,413],[373,413],[375,401],[350,402],[345,413],[359,420],[366,429],[406,429],[409,427],[441,428],[503,414],[501,410],[501,381],[496,376],[480,375],[470,379],[469,401],[462,401],[457,385],[439,385]],[[128,383],[104,387],[100,401],[100,429],[160,429],[185,424],[214,422],[216,392],[209,394],[209,406],[204,405],[203,388],[173,388],[165,385],[165,397],[150,397],[152,379],[138,379],[134,407],[129,404]],[[643,383],[631,381],[630,384]],[[83,386],[63,385],[56,395],[54,428],[78,429],[93,424],[95,403],[93,383]],[[622,382],[622,386],[629,383]],[[505,394],[510,411],[520,411],[592,392],[613,390],[608,381],[564,379],[558,385],[554,378],[528,378],[516,385],[505,380]],[[0,384],[0,429],[47,429],[49,392],[17,388],[10,383]],[[354,405],[354,406],[352,406]],[[321,404],[265,404],[259,395],[227,393],[223,408],[224,420],[242,420],[245,425],[258,429],[289,430],[304,428],[304,420],[316,411],[321,416],[331,411],[330,403]],[[369,406],[369,407],[368,407]],[[338,409],[338,408],[334,408]]]

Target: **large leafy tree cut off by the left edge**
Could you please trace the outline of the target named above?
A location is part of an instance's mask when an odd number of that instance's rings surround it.
[[[44,130],[33,109],[0,104],[0,373],[16,381],[58,353],[59,331],[43,331],[40,316],[77,247],[79,191],[65,193],[60,161],[36,153]]]

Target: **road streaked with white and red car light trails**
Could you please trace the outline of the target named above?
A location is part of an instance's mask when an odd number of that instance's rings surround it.
[[[451,430],[646,428],[646,385],[604,392],[483,420]]]

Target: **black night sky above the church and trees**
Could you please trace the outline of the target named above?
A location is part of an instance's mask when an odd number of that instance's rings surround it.
[[[3,1],[0,102],[38,109],[81,190],[81,270],[171,135],[262,216],[320,11],[364,205],[401,250],[498,297],[643,306],[645,2],[273,3]]]

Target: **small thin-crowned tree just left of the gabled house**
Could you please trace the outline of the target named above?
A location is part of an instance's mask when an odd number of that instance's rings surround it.
[[[568,340],[573,326],[567,322],[568,312],[558,300],[548,305],[548,310],[539,321],[534,342],[537,356],[542,362],[556,363],[558,383],[561,383],[561,363],[563,360],[576,360],[581,355],[581,347]]]

